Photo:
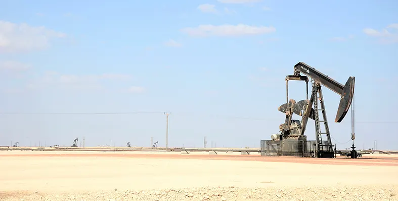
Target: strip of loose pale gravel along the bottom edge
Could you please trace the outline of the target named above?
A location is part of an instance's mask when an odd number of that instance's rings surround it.
[[[303,188],[200,187],[158,190],[118,190],[85,193],[0,192],[1,201],[36,200],[398,200],[398,186],[338,186]]]

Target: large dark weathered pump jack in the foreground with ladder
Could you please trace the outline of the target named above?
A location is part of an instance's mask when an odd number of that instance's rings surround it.
[[[305,76],[300,75],[303,74]],[[311,98],[308,99],[308,77],[312,82]],[[306,99],[296,103],[295,100],[289,100],[288,81],[305,81],[306,82]],[[321,86],[332,90],[341,96],[340,104],[337,109],[335,122],[339,123],[343,120],[348,112],[354,96],[355,77],[349,77],[345,85],[329,78],[328,76],[317,71],[315,68],[303,63],[298,62],[294,65],[294,74],[286,76],[286,103],[281,105],[278,110],[286,114],[285,123],[279,126],[280,134],[272,135],[272,140],[302,140],[306,142],[304,135],[305,127],[308,118],[314,119],[316,128],[316,144],[313,157],[316,158],[334,158],[333,145],[330,139],[330,130],[326,117],[325,103],[322,94]],[[318,102],[319,101],[319,102]],[[353,103],[353,102],[352,102]],[[313,108],[314,105],[314,108]],[[355,124],[354,124],[354,111],[351,107],[351,140],[352,151],[351,158],[357,158],[357,152],[353,141],[355,140]],[[322,119],[320,119],[319,111],[322,111]],[[302,116],[301,121],[292,119],[293,113]],[[324,124],[324,129],[321,131],[321,122]],[[326,141],[322,137],[326,136]],[[305,148],[306,144],[304,144]]]

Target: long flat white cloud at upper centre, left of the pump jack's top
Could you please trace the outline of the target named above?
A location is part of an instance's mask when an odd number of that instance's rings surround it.
[[[181,29],[183,33],[191,36],[242,36],[242,35],[259,35],[275,32],[272,26],[250,26],[245,24],[238,25],[199,25],[198,27],[187,27]]]

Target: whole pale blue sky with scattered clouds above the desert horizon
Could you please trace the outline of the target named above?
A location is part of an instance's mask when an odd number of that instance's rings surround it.
[[[202,147],[204,136],[208,147],[258,147],[284,122],[284,79],[302,61],[342,84],[356,77],[358,148],[398,149],[398,1],[0,5],[2,112],[171,111],[170,147]],[[304,99],[304,86],[292,82],[290,98]],[[348,148],[350,114],[334,123],[340,97],[324,96],[332,141]],[[0,115],[1,145],[76,137],[164,146],[165,115]]]

